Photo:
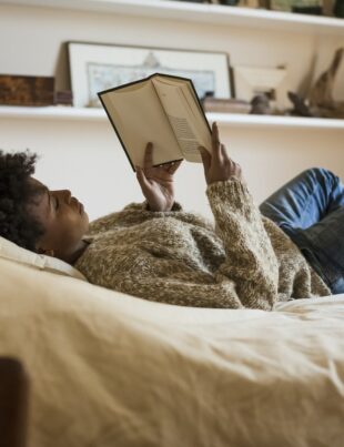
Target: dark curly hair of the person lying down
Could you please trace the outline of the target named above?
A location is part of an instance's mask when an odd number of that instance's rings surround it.
[[[0,236],[33,252],[44,233],[28,210],[34,196],[42,193],[29,182],[36,161],[37,154],[29,151],[4,153],[0,150]]]

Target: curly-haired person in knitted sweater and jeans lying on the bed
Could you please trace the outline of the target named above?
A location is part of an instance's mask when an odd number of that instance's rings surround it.
[[[174,201],[180,162],[153,166],[153,150],[136,169],[145,202],[90,224],[69,190],[32,176],[36,155],[0,152],[0,235],[93,284],[170,304],[271,309],[344,292],[344,190],[333,173],[307,170],[259,209],[214,123],[212,154],[200,148],[212,225]]]

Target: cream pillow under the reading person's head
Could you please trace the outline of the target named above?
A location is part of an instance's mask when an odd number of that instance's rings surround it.
[[[29,250],[21,248],[13,242],[8,241],[0,236],[0,257],[14,261],[20,264],[29,265],[33,268],[39,268],[60,275],[72,276],[78,280],[87,281],[82,273],[80,273],[72,265],[67,264],[55,257],[45,256],[42,254],[30,252]]]

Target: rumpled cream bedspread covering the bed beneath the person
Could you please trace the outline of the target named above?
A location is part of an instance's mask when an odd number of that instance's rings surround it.
[[[31,376],[31,447],[344,445],[344,295],[200,309],[0,272],[0,354]]]

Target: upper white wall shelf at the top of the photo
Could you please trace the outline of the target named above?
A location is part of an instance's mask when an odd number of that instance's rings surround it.
[[[1,3],[344,35],[343,19],[221,4],[169,0],[0,0]]]

